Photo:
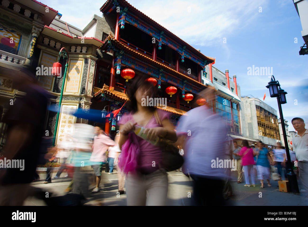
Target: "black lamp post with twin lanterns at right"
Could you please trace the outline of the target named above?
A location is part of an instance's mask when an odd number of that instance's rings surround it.
[[[274,80],[273,80],[273,78],[274,78]],[[278,89],[278,87],[279,87],[279,89]],[[283,89],[280,88],[279,82],[275,80],[275,77],[273,75],[271,77],[271,81],[268,83],[266,88],[268,88],[270,90],[270,97],[272,97],[272,98],[277,97],[278,109],[279,109],[279,114],[280,114],[280,119],[281,119],[282,134],[283,134],[283,139],[284,139],[284,142],[285,142],[286,155],[287,155],[287,159],[288,159],[287,161],[288,161],[288,165],[289,165],[287,176],[288,176],[291,192],[299,193],[296,174],[293,172],[293,169],[291,167],[291,158],[290,158],[288,139],[287,139],[287,135],[286,135],[285,120],[283,118],[282,108],[281,108],[281,104],[286,103],[287,92],[285,92]]]

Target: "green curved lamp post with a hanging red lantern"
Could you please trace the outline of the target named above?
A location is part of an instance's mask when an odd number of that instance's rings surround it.
[[[61,48],[60,52],[59,52],[59,59],[58,62],[55,62],[53,65],[53,69],[51,74],[55,76],[55,72],[58,71],[57,68],[60,67],[60,70],[62,71],[61,68],[61,64],[59,63],[61,55],[63,54],[63,59],[65,59],[65,70],[64,70],[64,75],[63,75],[63,83],[62,83],[62,88],[61,88],[61,95],[60,95],[60,100],[59,100],[59,108],[61,111],[61,103],[62,103],[62,96],[63,96],[63,90],[64,90],[64,84],[65,84],[65,79],[66,79],[66,72],[67,72],[67,67],[68,67],[68,53],[67,53],[67,49],[66,48]],[[56,133],[57,133],[57,129],[58,129],[58,124],[59,124],[59,116],[60,116],[60,111],[57,113],[57,120],[56,120],[56,125],[55,125],[55,132],[54,132],[54,139],[53,139],[53,145],[55,145],[55,141],[56,141]]]

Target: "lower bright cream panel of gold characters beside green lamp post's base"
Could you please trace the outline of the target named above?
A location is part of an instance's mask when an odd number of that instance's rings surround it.
[[[77,105],[62,105],[59,116],[57,143],[64,139],[65,134],[71,135],[74,131],[76,117],[72,116],[77,110]]]

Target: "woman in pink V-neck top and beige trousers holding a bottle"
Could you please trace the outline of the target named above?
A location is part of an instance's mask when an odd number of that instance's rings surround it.
[[[168,112],[157,109],[161,124],[156,122],[154,112],[156,107],[150,100],[156,97],[155,87],[144,81],[145,78],[134,78],[128,89],[130,112],[120,120],[120,149],[128,139],[128,133],[135,130],[136,126],[145,128],[148,140],[157,136],[176,141],[176,132],[168,120]],[[147,97],[148,96],[148,97]],[[144,99],[149,100],[145,103]],[[153,104],[153,102],[152,102]],[[132,136],[136,136],[132,134]],[[165,204],[168,191],[167,173],[161,167],[162,150],[148,141],[137,138],[140,153],[137,160],[137,174],[128,173],[126,176],[126,194],[128,205],[156,205]],[[148,192],[148,196],[147,196]]]

